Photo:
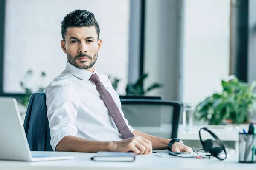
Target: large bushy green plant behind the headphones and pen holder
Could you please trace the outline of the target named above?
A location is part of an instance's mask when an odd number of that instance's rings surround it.
[[[235,76],[229,81],[221,81],[223,90],[204,99],[195,107],[195,120],[209,121],[211,125],[220,125],[224,121],[241,124],[248,121],[248,117],[255,110],[256,94],[250,86],[241,82]]]

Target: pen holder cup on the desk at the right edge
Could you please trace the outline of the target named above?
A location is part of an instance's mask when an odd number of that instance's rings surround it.
[[[255,163],[255,134],[239,133],[239,162]]]

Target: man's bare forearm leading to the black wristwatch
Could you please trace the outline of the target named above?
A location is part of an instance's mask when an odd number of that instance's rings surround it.
[[[167,145],[171,140],[171,139],[164,139],[164,138],[159,138],[156,136],[148,135],[148,134],[140,132],[138,130],[134,130],[132,133],[134,134],[134,136],[141,136],[141,137],[151,141],[153,150],[167,149]]]

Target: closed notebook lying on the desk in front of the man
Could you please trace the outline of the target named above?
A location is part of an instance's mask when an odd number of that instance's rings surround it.
[[[93,161],[125,161],[131,162],[136,158],[136,153],[133,152],[97,152],[91,157]]]

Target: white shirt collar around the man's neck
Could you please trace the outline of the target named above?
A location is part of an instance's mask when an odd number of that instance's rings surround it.
[[[96,68],[94,69],[94,72],[92,73],[85,69],[76,68],[75,66],[70,64],[68,61],[67,61],[65,70],[70,72],[72,75],[84,80],[85,82],[88,82],[88,80],[90,79],[90,77],[93,73],[97,73]]]

